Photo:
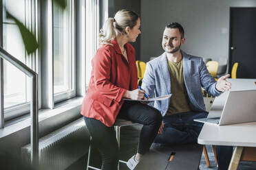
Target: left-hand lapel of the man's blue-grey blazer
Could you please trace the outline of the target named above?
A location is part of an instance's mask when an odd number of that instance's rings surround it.
[[[166,53],[162,53],[162,56],[160,56],[160,60],[158,61],[158,69],[160,70],[160,73],[162,73],[162,77],[164,77],[164,84],[167,88],[168,94],[171,94],[171,78]]]

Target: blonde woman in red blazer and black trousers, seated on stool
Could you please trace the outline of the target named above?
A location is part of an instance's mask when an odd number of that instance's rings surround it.
[[[143,124],[137,154],[127,162],[130,169],[153,143],[162,116],[158,110],[138,101],[145,90],[138,89],[135,51],[128,42],[140,34],[140,18],[130,10],[120,10],[105,21],[100,30],[100,48],[92,59],[89,88],[83,100],[83,114],[92,145],[103,158],[101,169],[117,169],[118,143],[114,132],[116,117]]]

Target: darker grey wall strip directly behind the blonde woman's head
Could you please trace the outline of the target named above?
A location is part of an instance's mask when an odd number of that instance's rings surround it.
[[[138,15],[140,14],[140,1],[141,0],[109,0],[109,17],[114,17],[116,12],[121,9],[133,10]],[[140,36],[136,42],[131,43],[136,51],[136,60],[140,60]]]

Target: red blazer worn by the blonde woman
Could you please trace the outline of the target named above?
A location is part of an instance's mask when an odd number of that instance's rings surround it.
[[[125,44],[128,63],[116,40],[111,44],[114,46],[100,47],[92,59],[89,88],[81,108],[83,116],[98,119],[108,127],[116,120],[126,90],[138,88],[134,47]]]

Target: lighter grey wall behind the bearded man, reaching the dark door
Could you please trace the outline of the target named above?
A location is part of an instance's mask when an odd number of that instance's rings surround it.
[[[140,59],[160,56],[164,26],[182,24],[187,53],[226,64],[230,7],[255,7],[255,0],[141,0]]]

